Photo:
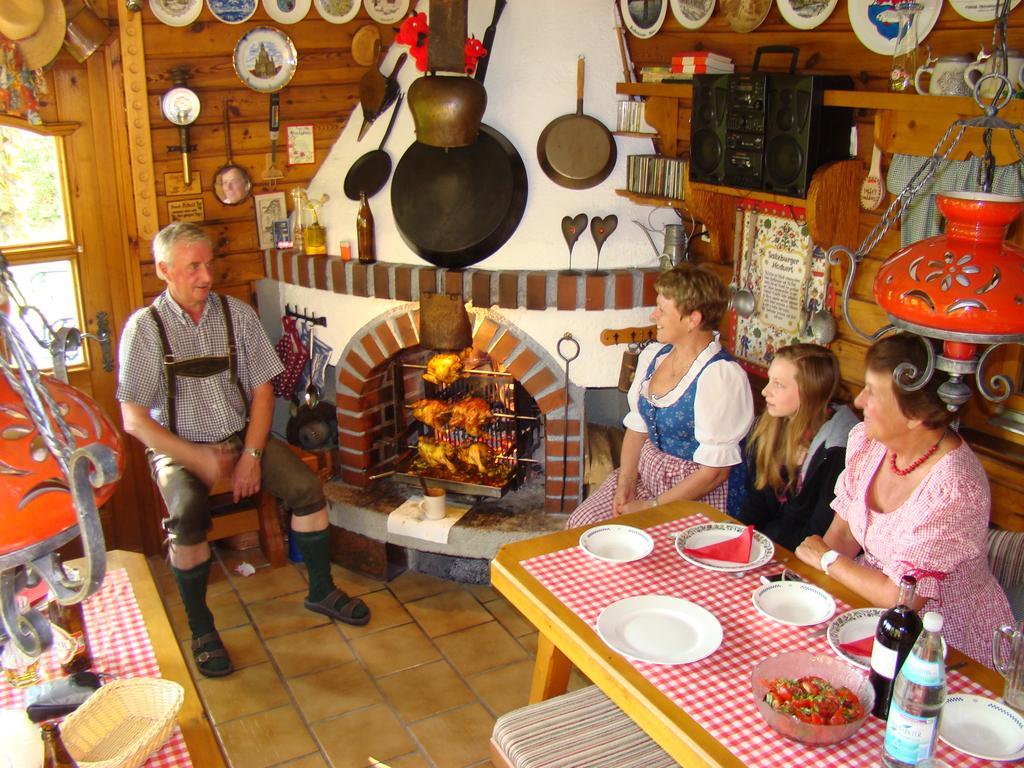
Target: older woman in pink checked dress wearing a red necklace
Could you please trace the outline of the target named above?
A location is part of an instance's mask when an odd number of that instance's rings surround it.
[[[836,517],[797,548],[801,560],[874,605],[896,602],[906,573],[918,577],[915,605],[945,618],[946,640],[991,666],[992,631],[1013,624],[1006,594],[986,559],[991,497],[974,452],[950,427],[939,382],[916,392],[893,383],[901,362],[926,365],[920,339],[897,334],[867,352],[855,404],[846,469],[836,486]]]

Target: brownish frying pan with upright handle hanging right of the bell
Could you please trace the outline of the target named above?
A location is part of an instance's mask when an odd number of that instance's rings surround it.
[[[577,61],[577,111],[562,115],[541,132],[537,159],[559,186],[589,189],[615,167],[615,139],[597,118],[583,114],[584,57]]]

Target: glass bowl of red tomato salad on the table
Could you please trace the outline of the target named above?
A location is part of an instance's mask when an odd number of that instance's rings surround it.
[[[874,706],[867,677],[833,655],[791,651],[751,674],[754,701],[772,728],[808,744],[834,744],[864,724]]]

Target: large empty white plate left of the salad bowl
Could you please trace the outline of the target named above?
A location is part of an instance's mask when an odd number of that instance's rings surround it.
[[[628,597],[597,617],[597,634],[637,662],[689,664],[722,644],[722,625],[707,608],[667,595]]]

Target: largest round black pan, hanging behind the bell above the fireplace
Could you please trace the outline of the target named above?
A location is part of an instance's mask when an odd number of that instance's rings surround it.
[[[483,35],[486,58],[506,0],[496,0]],[[515,231],[526,209],[526,167],[500,131],[480,125],[474,143],[442,150],[414,142],[394,169],[391,208],[398,233],[421,258],[461,269],[490,256]]]

